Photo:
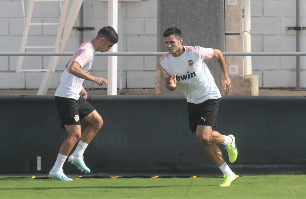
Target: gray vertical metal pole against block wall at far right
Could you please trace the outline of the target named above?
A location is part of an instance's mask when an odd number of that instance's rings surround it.
[[[296,0],[296,27],[300,27],[300,0]],[[297,52],[300,52],[300,30],[297,31]],[[300,89],[300,56],[297,56],[297,85],[296,89]]]

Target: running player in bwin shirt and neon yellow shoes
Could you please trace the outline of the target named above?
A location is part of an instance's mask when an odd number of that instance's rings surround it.
[[[204,62],[205,59],[212,57],[219,60],[223,72],[222,86],[230,91],[231,81],[225,60],[218,49],[182,46],[181,35],[181,31],[176,27],[168,28],[163,33],[168,52],[160,58],[160,65],[166,79],[166,88],[173,91],[178,84],[184,92],[188,102],[189,127],[192,132],[196,132],[196,137],[206,149],[211,160],[223,172],[224,180],[219,186],[230,186],[236,179],[236,174],[226,164],[216,144],[223,144],[230,162],[235,162],[238,154],[235,137],[221,135],[212,130],[212,127],[217,126],[221,94]]]

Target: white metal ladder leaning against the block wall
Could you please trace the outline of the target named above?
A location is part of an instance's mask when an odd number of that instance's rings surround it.
[[[61,6],[61,17],[59,23],[31,23],[34,2],[59,2]],[[63,2],[63,5],[62,3]],[[54,52],[63,52],[68,41],[73,24],[79,13],[83,0],[74,0],[70,8],[68,17],[66,18],[69,0],[29,0],[27,16],[24,12],[24,30],[20,44],[20,52],[25,52],[26,49],[54,49]],[[22,0],[24,7],[24,0]],[[27,46],[28,34],[30,25],[58,25],[55,46]],[[50,82],[54,75],[56,66],[59,61],[59,56],[52,56],[47,69],[21,69],[24,56],[19,56],[17,60],[16,72],[45,72],[42,83],[40,84],[38,95],[47,94]]]

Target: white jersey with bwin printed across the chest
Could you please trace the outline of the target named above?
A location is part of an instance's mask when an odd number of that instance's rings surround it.
[[[212,48],[183,46],[185,52],[173,57],[169,52],[160,58],[160,65],[165,77],[177,75],[177,85],[184,92],[188,102],[199,104],[208,99],[221,98],[220,91],[209,71],[205,59],[214,55]]]

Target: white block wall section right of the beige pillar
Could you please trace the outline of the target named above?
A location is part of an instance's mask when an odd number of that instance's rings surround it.
[[[295,52],[295,0],[252,0],[252,52]],[[300,0],[300,25],[306,26],[306,0]],[[300,32],[301,51],[306,51],[306,31]],[[296,87],[296,57],[252,57],[252,74],[259,76],[259,87]],[[301,87],[306,87],[306,57],[301,57]]]

